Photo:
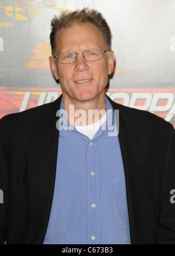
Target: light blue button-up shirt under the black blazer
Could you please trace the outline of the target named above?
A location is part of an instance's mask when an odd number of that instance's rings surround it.
[[[106,107],[113,111],[107,98]],[[106,124],[91,141],[69,124],[60,130],[44,244],[130,244],[124,167],[117,132],[111,133],[114,115]]]

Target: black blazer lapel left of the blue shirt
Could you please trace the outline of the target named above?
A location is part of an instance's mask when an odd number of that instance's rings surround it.
[[[28,180],[31,219],[34,224],[34,244],[43,244],[53,200],[59,131],[56,112],[61,97],[48,104],[34,130],[33,142],[28,146]]]

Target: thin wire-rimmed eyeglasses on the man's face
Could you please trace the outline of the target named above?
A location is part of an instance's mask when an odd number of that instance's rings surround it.
[[[94,60],[100,60],[103,58],[103,54],[108,52],[109,50],[100,50],[100,49],[92,49],[92,50],[85,50],[83,53],[75,53],[75,52],[66,52],[60,53],[57,56],[58,62],[61,64],[71,64],[76,61],[78,54],[83,54],[85,60],[89,60],[93,62]]]

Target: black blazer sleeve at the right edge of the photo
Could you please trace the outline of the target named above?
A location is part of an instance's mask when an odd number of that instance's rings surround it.
[[[159,187],[159,218],[156,228],[156,244],[175,244],[175,131],[169,124],[169,143]]]

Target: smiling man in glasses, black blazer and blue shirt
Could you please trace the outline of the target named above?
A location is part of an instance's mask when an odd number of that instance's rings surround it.
[[[62,96],[0,122],[1,243],[175,244],[172,125],[105,95],[99,12],[63,13],[50,39]]]

